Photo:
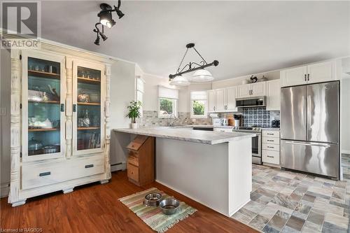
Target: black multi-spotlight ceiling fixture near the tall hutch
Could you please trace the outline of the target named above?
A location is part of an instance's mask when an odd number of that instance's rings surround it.
[[[120,0],[118,0],[118,6],[113,6],[113,8],[107,3],[101,3],[99,5],[99,7],[101,8],[101,11],[97,14],[97,16],[99,17],[99,22],[97,22],[94,25],[94,27],[96,28],[94,29],[94,32],[97,33],[97,38],[94,41],[95,45],[99,45],[99,36],[101,36],[104,41],[106,41],[106,39],[108,38],[104,34],[104,26],[111,28],[116,24],[116,21],[113,20],[112,12],[115,11],[119,19],[124,16],[124,13],[120,10],[120,4],[121,2]],[[100,31],[99,28],[97,27],[97,25],[99,24],[102,25],[102,31]]]

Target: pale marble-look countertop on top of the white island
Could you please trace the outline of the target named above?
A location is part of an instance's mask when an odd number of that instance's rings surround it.
[[[204,144],[218,144],[229,141],[251,138],[256,134],[241,132],[214,132],[193,130],[191,127],[149,127],[139,129],[113,129],[116,132],[129,134],[141,134],[146,136],[155,136],[165,139],[176,139],[181,141],[191,141]]]

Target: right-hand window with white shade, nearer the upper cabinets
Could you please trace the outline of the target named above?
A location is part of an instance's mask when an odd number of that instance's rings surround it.
[[[190,92],[191,118],[207,118],[208,117],[208,100],[207,91]]]

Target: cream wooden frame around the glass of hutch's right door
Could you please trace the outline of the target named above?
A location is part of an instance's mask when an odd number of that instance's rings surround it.
[[[104,127],[105,127],[105,112],[104,104],[106,101],[106,76],[105,66],[102,63],[89,62],[82,59],[73,59],[73,104],[77,105],[78,109],[78,66],[85,68],[96,69],[101,71],[101,128],[99,130],[101,134],[101,148],[78,150],[77,148],[77,130],[78,130],[78,111],[73,111],[73,156],[74,155],[89,155],[92,153],[103,153],[104,152]]]

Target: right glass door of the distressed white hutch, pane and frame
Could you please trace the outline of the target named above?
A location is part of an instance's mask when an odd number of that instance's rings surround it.
[[[73,112],[76,113],[76,133],[73,134],[74,152],[76,154],[95,153],[102,150],[103,132],[103,67],[86,67],[77,64],[76,90],[73,98],[76,104]]]

